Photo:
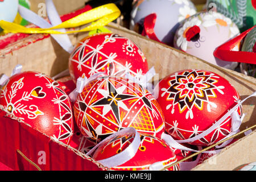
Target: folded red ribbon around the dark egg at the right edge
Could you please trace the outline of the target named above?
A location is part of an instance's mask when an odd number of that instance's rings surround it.
[[[254,26],[256,27],[256,25]],[[242,34],[238,35],[236,38],[229,40],[218,47],[213,55],[220,60],[224,61],[232,61],[232,62],[240,62],[240,63],[248,63],[248,64],[256,64],[256,53],[255,52],[245,52],[245,51],[230,51],[232,50],[238,43],[242,41],[243,38],[254,28],[246,30]],[[255,46],[254,46],[255,47]]]

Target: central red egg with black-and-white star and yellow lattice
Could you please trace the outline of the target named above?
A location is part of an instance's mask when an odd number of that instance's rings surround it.
[[[98,77],[85,85],[73,107],[82,134],[96,143],[126,127],[160,138],[163,113],[141,85],[121,77]]]

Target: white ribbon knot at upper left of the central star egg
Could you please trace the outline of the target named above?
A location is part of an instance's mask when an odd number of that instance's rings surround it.
[[[94,75],[92,75],[91,77],[87,78],[86,76],[84,78],[79,77],[76,81],[76,89],[73,90],[71,93],[69,93],[69,98],[72,102],[76,101],[76,97],[79,93],[82,92],[82,90],[84,89],[84,86],[86,84],[88,84],[88,82],[96,79],[98,76],[104,74],[104,72],[100,72],[100,73],[96,73]]]

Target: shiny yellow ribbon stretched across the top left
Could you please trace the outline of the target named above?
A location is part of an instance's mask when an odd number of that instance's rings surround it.
[[[5,20],[0,20],[0,27],[3,29],[3,32],[6,34],[10,32],[24,33],[24,34],[72,34],[75,32],[96,30],[97,28],[103,27],[106,24],[117,19],[120,14],[121,12],[118,9],[118,7],[115,6],[115,4],[109,3],[103,6],[96,7],[92,10],[86,11],[85,13],[77,15],[76,17],[71,18],[51,28],[27,28],[17,23],[6,22]],[[88,27],[85,27],[81,30],[67,31],[67,32],[60,32],[60,31],[54,30],[59,28],[79,27],[94,21],[96,22],[93,24],[90,24]]]

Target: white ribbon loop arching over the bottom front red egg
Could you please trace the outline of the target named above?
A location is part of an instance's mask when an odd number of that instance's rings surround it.
[[[136,154],[136,152],[141,144],[141,138],[139,137],[139,133],[133,127],[127,127],[125,129],[118,131],[117,133],[110,135],[109,137],[105,138],[100,143],[98,143],[95,147],[93,147],[92,150],[90,150],[89,152],[86,153],[86,155],[88,155],[88,156],[91,155],[95,150],[97,150],[98,147],[101,146],[101,144],[104,144],[105,142],[112,140],[113,138],[117,137],[118,135],[123,135],[123,134],[135,134],[133,142],[131,142],[129,144],[129,146],[127,148],[125,148],[125,150],[120,152],[119,154],[111,156],[110,158],[98,160],[98,162],[100,162],[103,166],[108,167],[108,168],[120,166],[120,165],[126,163],[127,161],[129,161],[130,159],[132,159],[134,157],[134,155]]]

